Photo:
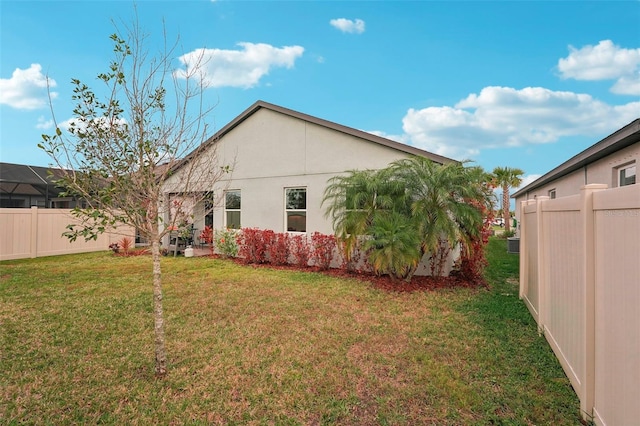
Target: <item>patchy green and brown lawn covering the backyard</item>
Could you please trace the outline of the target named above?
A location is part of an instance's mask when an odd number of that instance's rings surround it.
[[[579,424],[517,297],[388,293],[355,280],[163,258],[169,375],[153,375],[150,260],[0,263],[2,424]]]

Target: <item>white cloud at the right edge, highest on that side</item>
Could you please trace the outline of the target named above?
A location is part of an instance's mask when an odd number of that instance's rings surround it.
[[[611,91],[640,95],[640,48],[624,49],[611,40],[580,49],[569,46],[569,56],[558,61],[562,78],[617,80]]]

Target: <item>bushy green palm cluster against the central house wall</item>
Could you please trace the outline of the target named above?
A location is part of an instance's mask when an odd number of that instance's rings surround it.
[[[376,272],[410,280],[425,253],[440,275],[448,250],[459,243],[471,250],[483,223],[478,205],[490,205],[483,178],[479,167],[412,157],[386,169],[336,176],[322,202],[347,261],[366,235],[364,248]]]

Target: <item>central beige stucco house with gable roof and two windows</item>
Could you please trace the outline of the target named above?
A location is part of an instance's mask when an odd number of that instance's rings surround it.
[[[263,101],[206,144],[200,158],[186,161],[200,161],[200,167],[233,168],[229,179],[206,189],[219,200],[213,217],[206,219],[214,228],[332,234],[331,220],[321,206],[330,178],[348,170],[381,169],[414,155],[439,164],[454,161]],[[214,150],[215,163],[207,160]],[[179,179],[180,170],[170,180]],[[203,209],[196,206],[198,211]],[[194,218],[195,228],[202,229],[205,219],[198,214]]]

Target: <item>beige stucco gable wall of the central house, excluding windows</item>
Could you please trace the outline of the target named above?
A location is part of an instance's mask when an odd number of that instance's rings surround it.
[[[242,227],[285,230],[285,188],[307,188],[307,233],[333,232],[321,207],[328,179],[352,169],[379,169],[409,154],[338,132],[269,109],[259,109],[201,156],[199,167],[233,165],[229,178],[214,190],[241,190]],[[175,176],[174,179],[179,179]],[[223,206],[213,214],[214,227],[222,228]],[[202,228],[196,218],[195,226]]]

